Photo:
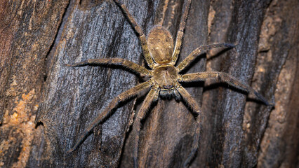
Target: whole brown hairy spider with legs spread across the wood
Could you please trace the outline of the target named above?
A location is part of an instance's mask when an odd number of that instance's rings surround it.
[[[211,48],[233,48],[234,45],[227,44],[227,43],[219,43],[219,44],[212,44],[212,45],[204,45],[200,46],[199,48],[193,50],[188,57],[186,57],[178,66],[175,66],[175,63],[178,59],[178,55],[180,53],[180,47],[182,45],[182,36],[184,34],[184,29],[186,25],[187,15],[190,8],[190,3],[192,0],[188,0],[185,5],[185,10],[183,12],[182,18],[180,20],[180,27],[178,30],[178,34],[176,36],[175,45],[173,46],[173,37],[171,36],[170,32],[161,26],[155,26],[150,30],[150,34],[148,34],[147,38],[145,34],[142,32],[140,26],[135,22],[132,15],[128,12],[128,9],[124,4],[120,3],[118,0],[114,0],[117,3],[117,6],[121,8],[124,12],[124,15],[128,18],[128,21],[131,23],[135,31],[139,34],[138,38],[140,39],[143,55],[145,57],[145,61],[147,65],[150,67],[146,69],[144,66],[140,66],[135,64],[131,61],[121,58],[102,58],[102,59],[87,59],[84,62],[79,62],[76,64],[67,64],[67,66],[86,66],[88,64],[114,64],[125,66],[133,71],[140,73],[142,76],[150,77],[144,83],[140,83],[135,87],[127,90],[126,92],[122,92],[117,97],[115,97],[112,102],[109,104],[107,109],[100,113],[100,115],[93,120],[93,123],[87,127],[84,131],[84,134],[81,135],[77,143],[71,148],[68,152],[74,151],[81,141],[83,141],[84,137],[90,132],[93,127],[98,125],[102,122],[109,113],[114,109],[119,102],[123,102],[124,100],[135,96],[139,92],[144,90],[150,89],[150,92],[145,97],[144,102],[138,112],[134,124],[133,124],[133,131],[135,131],[135,144],[134,144],[134,167],[138,167],[138,143],[139,143],[139,134],[140,134],[140,120],[145,117],[145,113],[150,108],[152,102],[157,101],[159,99],[159,95],[164,94],[172,94],[175,97],[182,97],[182,99],[189,104],[191,109],[198,114],[197,116],[197,130],[194,134],[194,141],[192,144],[192,151],[188,156],[187,160],[185,161],[184,166],[190,163],[192,160],[197,148],[199,147],[199,133],[200,133],[200,123],[201,123],[201,109],[199,104],[194,100],[194,98],[190,95],[184,87],[180,85],[180,83],[187,83],[192,81],[199,81],[205,80],[207,78],[214,78],[221,80],[222,82],[228,83],[234,87],[237,87],[240,90],[244,90],[246,92],[251,92],[255,94],[260,101],[263,103],[268,104],[267,100],[261,96],[258,92],[255,92],[251,87],[242,84],[236,78],[233,78],[227,73],[222,73],[218,71],[211,71],[211,72],[199,72],[199,73],[189,73],[185,75],[180,75],[180,71],[185,69],[195,58],[199,55],[203,54],[207,50]]]

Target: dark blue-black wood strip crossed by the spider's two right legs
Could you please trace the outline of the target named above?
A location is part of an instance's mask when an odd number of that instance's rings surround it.
[[[211,25],[210,41],[213,43],[224,39],[236,43],[237,47],[226,52],[226,55],[219,55],[215,59],[212,57],[208,69],[225,71],[251,85],[260,27],[269,3],[270,1],[215,1],[212,4],[211,13],[214,14],[211,14],[211,22],[214,24]],[[207,120],[203,125],[207,127],[202,134],[203,151],[199,151],[200,162],[197,165],[203,167],[205,163],[210,167],[241,167],[245,164],[244,167],[252,167],[247,160],[242,160],[245,150],[242,146],[242,138],[245,136],[242,123],[246,94],[232,87],[225,88],[227,85],[214,89],[218,86],[209,84],[204,94],[203,111]],[[255,89],[259,90],[258,87]],[[262,94],[266,99],[272,99],[272,94]],[[258,105],[265,107],[264,113],[269,114],[270,107],[260,103]]]

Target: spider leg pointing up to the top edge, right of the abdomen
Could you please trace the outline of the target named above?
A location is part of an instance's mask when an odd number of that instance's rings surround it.
[[[175,64],[175,62],[178,59],[178,54],[180,53],[180,47],[182,46],[182,36],[184,35],[184,29],[186,26],[186,20],[189,13],[189,8],[192,0],[188,0],[185,5],[184,14],[182,15],[182,18],[180,18],[180,27],[178,29],[178,33],[176,34],[176,40],[175,40],[175,48],[173,50],[173,55],[171,58],[171,64]]]

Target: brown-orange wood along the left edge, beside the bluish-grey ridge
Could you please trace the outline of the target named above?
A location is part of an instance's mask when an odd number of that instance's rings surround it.
[[[0,1],[0,167],[25,167],[43,136],[34,118],[67,3]]]

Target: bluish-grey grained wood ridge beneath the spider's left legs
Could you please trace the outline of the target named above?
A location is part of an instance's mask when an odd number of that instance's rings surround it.
[[[145,4],[125,3],[137,22],[147,17]],[[135,12],[134,12],[135,11]],[[76,151],[74,146],[86,127],[121,92],[136,84],[133,73],[113,66],[68,67],[67,64],[100,57],[126,58],[137,64],[140,42],[113,1],[91,8],[78,2],[69,9],[67,21],[53,55],[38,121],[46,128],[53,165],[67,167],[117,167],[134,103],[119,108],[95,127]],[[93,134],[92,134],[93,133]],[[59,152],[58,152],[59,151]]]

